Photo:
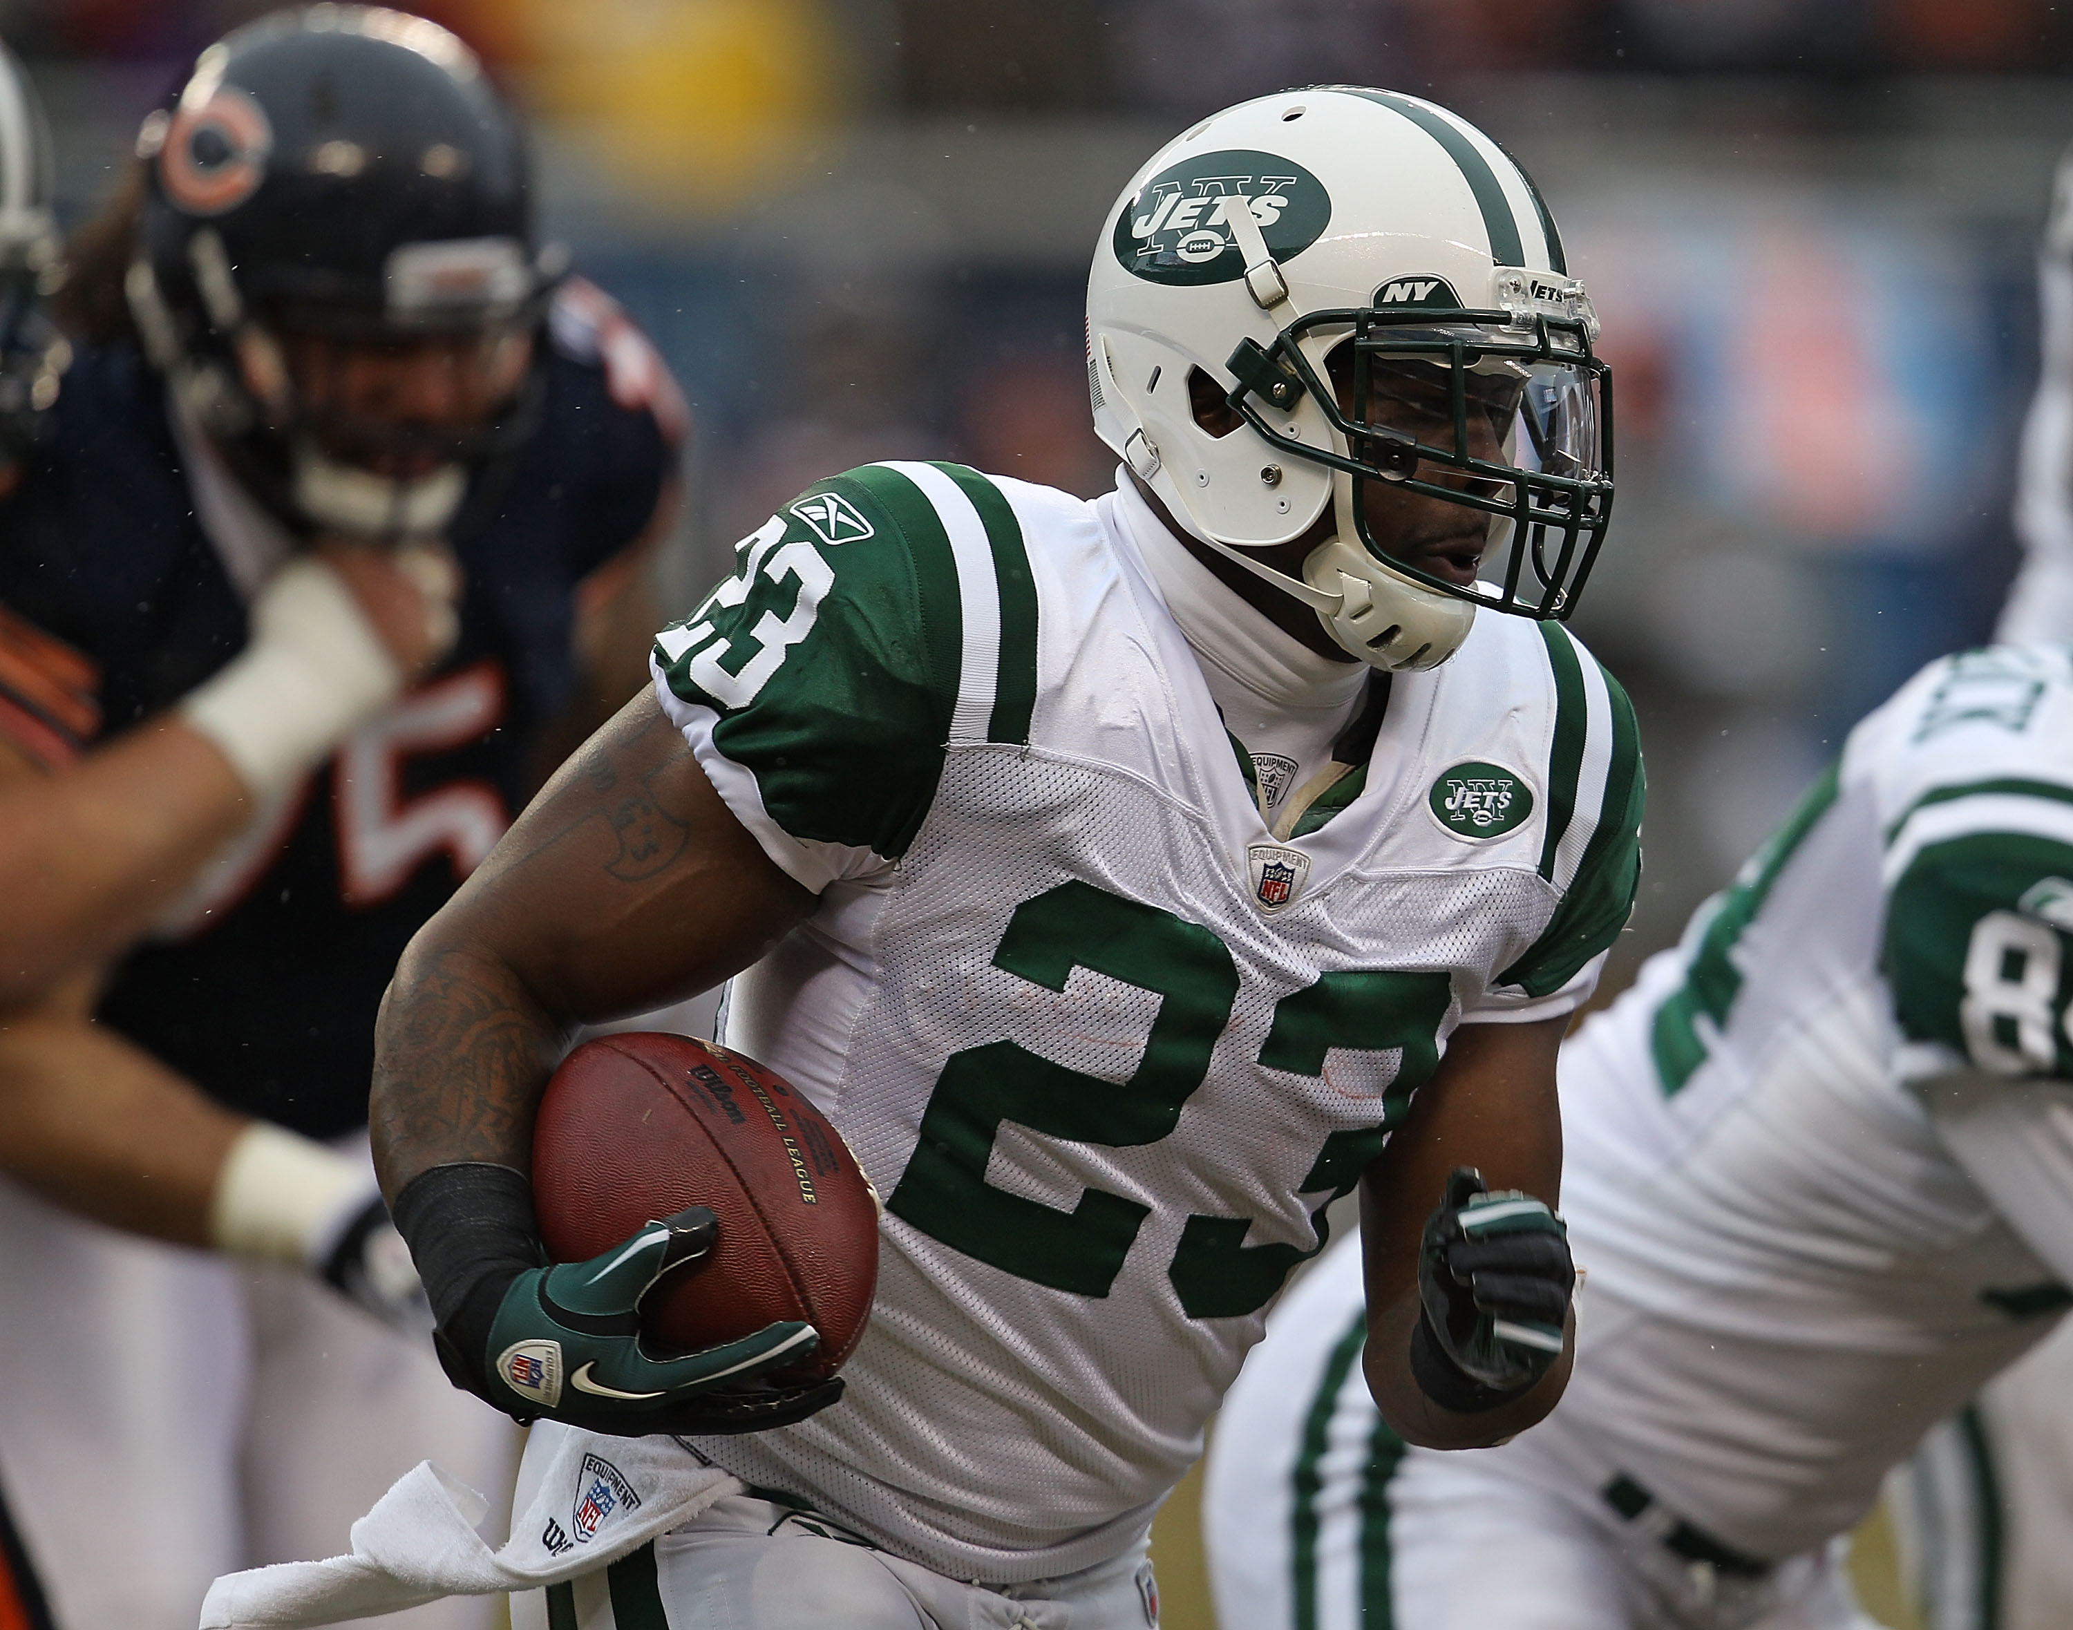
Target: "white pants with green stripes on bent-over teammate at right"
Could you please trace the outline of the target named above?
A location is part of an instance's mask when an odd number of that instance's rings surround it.
[[[1694,1568],[1549,1431],[1405,1450],[1360,1369],[1358,1265],[1327,1255],[1289,1290],[1217,1416],[1202,1537],[1225,1630],[1876,1630],[1841,1543],[1760,1578]]]

